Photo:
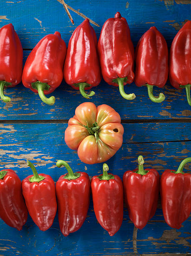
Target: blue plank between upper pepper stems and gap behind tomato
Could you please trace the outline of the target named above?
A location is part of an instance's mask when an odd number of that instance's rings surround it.
[[[5,103],[0,100],[0,120],[50,120],[69,119],[75,113],[75,108],[83,102],[91,101],[96,106],[110,105],[120,115],[121,119],[187,119],[191,118],[191,107],[186,100],[185,90],[176,90],[169,83],[165,88],[154,87],[154,95],[163,92],[166,99],[162,103],[152,102],[148,98],[147,88],[137,87],[134,82],[125,86],[127,93],[134,92],[136,99],[129,101],[121,97],[117,87],[108,85],[103,80],[94,87],[95,95],[87,100],[78,90],[74,90],[63,82],[51,95],[56,97],[53,106],[46,105],[38,94],[27,89],[23,84],[6,88],[5,95],[12,98]],[[72,104],[71,104],[72,102]]]

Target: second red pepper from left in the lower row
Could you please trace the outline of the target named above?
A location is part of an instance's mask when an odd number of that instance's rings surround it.
[[[27,161],[33,171],[22,182],[23,196],[34,223],[45,231],[51,227],[57,210],[55,184],[50,175],[37,173],[35,166]]]

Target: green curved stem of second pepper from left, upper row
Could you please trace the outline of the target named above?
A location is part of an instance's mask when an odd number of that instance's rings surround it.
[[[38,90],[38,95],[40,96],[40,99],[45,102],[48,105],[54,105],[55,103],[55,97],[51,96],[50,98],[47,98],[44,94],[44,91],[48,91],[50,89],[50,85],[47,83],[41,83],[39,81],[34,82],[31,84],[32,88],[35,90]]]

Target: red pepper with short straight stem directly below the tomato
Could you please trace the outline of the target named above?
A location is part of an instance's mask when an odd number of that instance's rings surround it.
[[[123,184],[120,177],[108,174],[108,169],[108,165],[103,164],[103,174],[93,176],[91,189],[95,216],[100,225],[113,236],[123,221]]]

